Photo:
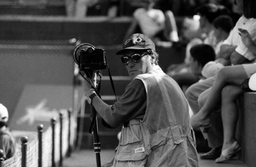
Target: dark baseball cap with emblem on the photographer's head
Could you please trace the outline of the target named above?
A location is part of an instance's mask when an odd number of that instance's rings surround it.
[[[123,54],[126,50],[156,50],[155,44],[151,39],[143,34],[133,34],[124,43],[123,49],[116,52],[116,54]]]

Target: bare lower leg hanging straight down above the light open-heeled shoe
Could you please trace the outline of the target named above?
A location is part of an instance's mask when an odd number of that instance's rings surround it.
[[[236,122],[238,120],[238,108],[236,99],[243,93],[243,89],[237,85],[228,85],[221,91],[221,117],[223,121],[224,142],[222,150],[234,143]]]

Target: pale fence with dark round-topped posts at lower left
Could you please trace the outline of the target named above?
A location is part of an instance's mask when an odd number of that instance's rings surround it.
[[[49,120],[49,128],[37,126],[37,139],[28,141],[26,136],[17,143],[15,155],[4,160],[0,150],[0,167],[55,167],[62,166],[63,157],[70,156],[75,128],[72,109],[59,112],[59,118]]]

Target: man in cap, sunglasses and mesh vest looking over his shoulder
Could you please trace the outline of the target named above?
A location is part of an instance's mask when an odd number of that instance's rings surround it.
[[[104,121],[123,124],[114,167],[198,166],[189,106],[178,84],[158,66],[150,38],[133,34],[124,43],[122,63],[132,81],[113,105],[104,103],[85,80],[85,96]],[[96,77],[93,77],[96,85]]]

